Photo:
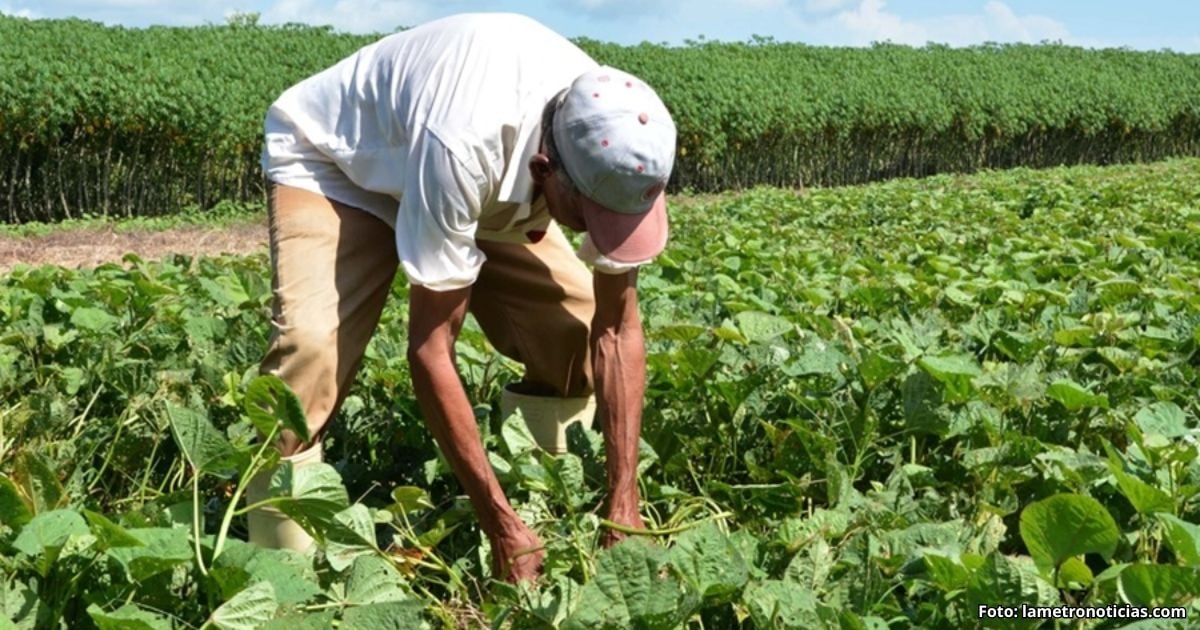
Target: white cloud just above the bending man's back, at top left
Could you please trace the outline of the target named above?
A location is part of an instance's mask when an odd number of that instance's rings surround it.
[[[277,0],[263,11],[263,24],[296,22],[331,25],[349,32],[392,32],[400,26],[414,26],[434,17],[426,2],[402,0]]]

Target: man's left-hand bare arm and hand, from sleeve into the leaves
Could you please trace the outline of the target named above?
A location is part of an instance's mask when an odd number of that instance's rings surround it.
[[[455,368],[454,344],[469,300],[470,288],[434,292],[412,287],[408,362],[413,388],[426,425],[492,542],[496,577],[514,582],[533,580],[541,571],[545,556],[541,540],[509,505],[484,452],[475,414]]]

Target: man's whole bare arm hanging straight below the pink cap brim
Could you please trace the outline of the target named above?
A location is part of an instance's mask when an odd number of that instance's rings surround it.
[[[637,444],[646,394],[646,342],[637,312],[637,270],[595,274],[592,320],[596,406],[604,427],[608,472],[608,515],[617,524],[642,529],[637,492]],[[610,529],[612,546],[625,534]]]

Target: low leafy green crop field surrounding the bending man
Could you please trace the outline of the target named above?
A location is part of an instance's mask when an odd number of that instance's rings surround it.
[[[1200,160],[755,188],[672,221],[640,282],[641,535],[599,547],[599,436],[534,449],[496,410],[518,367],[462,334],[547,545],[521,587],[420,419],[402,281],[328,464],[276,480],[305,557],[242,541],[256,431],[302,425],[256,376],[265,253],[0,276],[0,628],[1194,623],[979,607],[1200,614]]]

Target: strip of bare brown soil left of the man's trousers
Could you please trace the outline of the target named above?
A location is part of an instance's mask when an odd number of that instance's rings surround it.
[[[172,254],[254,253],[266,247],[266,222],[223,227],[186,226],[161,230],[110,226],[56,230],[38,236],[0,235],[0,274],[17,264],[94,268],[136,253],[145,260]]]

